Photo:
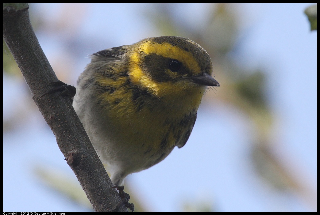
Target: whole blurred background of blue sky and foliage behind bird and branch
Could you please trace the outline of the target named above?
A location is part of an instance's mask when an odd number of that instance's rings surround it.
[[[76,85],[99,50],[187,37],[210,54],[187,144],[125,180],[136,211],[316,211],[317,32],[311,4],[29,4],[40,45]],[[92,211],[4,43],[3,210]]]

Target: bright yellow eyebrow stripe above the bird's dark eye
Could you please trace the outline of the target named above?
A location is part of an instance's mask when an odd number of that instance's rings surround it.
[[[200,66],[198,62],[195,60],[194,56],[178,46],[173,46],[170,43],[154,43],[152,41],[147,41],[142,43],[140,46],[140,50],[146,54],[157,54],[161,55],[165,58],[172,58],[180,61],[183,65],[187,66],[191,71],[193,71],[193,75],[197,75],[201,73]]]

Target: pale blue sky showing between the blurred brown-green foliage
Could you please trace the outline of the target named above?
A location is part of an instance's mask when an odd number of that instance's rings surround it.
[[[281,143],[275,147],[275,154],[283,159],[293,175],[302,175],[301,183],[316,195],[317,33],[309,31],[308,20],[303,14],[309,5],[235,6],[242,14],[243,23],[243,35],[237,48],[237,55],[241,57],[237,60],[252,68],[261,66],[268,72],[268,97],[277,117],[274,139]],[[180,4],[176,15],[181,17],[183,11],[190,11],[190,17],[183,19],[193,25],[206,19],[208,6]],[[31,4],[30,7],[44,14],[41,21],[47,23],[49,29],[54,23],[52,19],[66,18],[59,17],[63,10],[61,4]],[[101,44],[88,42],[79,50],[67,52],[77,57],[72,58],[72,74],[57,75],[59,78],[66,76],[75,84],[89,62],[87,54],[160,36],[141,12],[149,8],[150,4],[81,4],[77,10],[83,14],[75,16],[75,19],[82,19],[80,27],[52,37],[39,30],[37,36],[53,64],[64,58],[62,51],[68,49],[72,39],[76,42],[81,38],[101,41]],[[78,36],[72,38],[70,35],[75,30]],[[54,70],[66,69],[61,67]],[[215,78],[219,81],[219,77]],[[86,210],[44,186],[36,177],[36,166],[45,166],[75,179],[54,135],[31,101],[23,80],[17,81],[4,73],[3,89],[4,121],[14,114],[21,119],[14,123],[13,129],[4,130],[3,210]],[[221,89],[216,88],[216,94]],[[25,109],[28,111],[24,112]],[[16,110],[20,111],[17,113]],[[130,175],[128,183],[150,211],[181,211],[186,202],[208,204],[217,211],[316,211],[311,194],[309,198],[301,198],[293,191],[280,192],[254,173],[248,159],[248,126],[242,114],[232,107],[220,103],[202,106],[188,143],[181,149],[174,149],[161,163]]]

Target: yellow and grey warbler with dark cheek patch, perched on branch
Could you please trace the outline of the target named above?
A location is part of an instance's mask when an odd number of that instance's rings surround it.
[[[73,106],[115,185],[183,147],[196,121],[212,62],[197,43],[143,39],[91,55]]]

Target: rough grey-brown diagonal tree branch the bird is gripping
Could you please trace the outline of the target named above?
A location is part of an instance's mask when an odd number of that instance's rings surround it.
[[[24,3],[20,9],[4,4],[3,37],[31,90],[32,99],[56,136],[61,152],[93,209],[108,211],[113,208],[121,199],[115,189],[110,189],[112,182],[69,99],[54,95],[36,99],[50,89],[48,83],[58,79],[31,27],[28,4]],[[127,209],[121,205],[118,211]]]

